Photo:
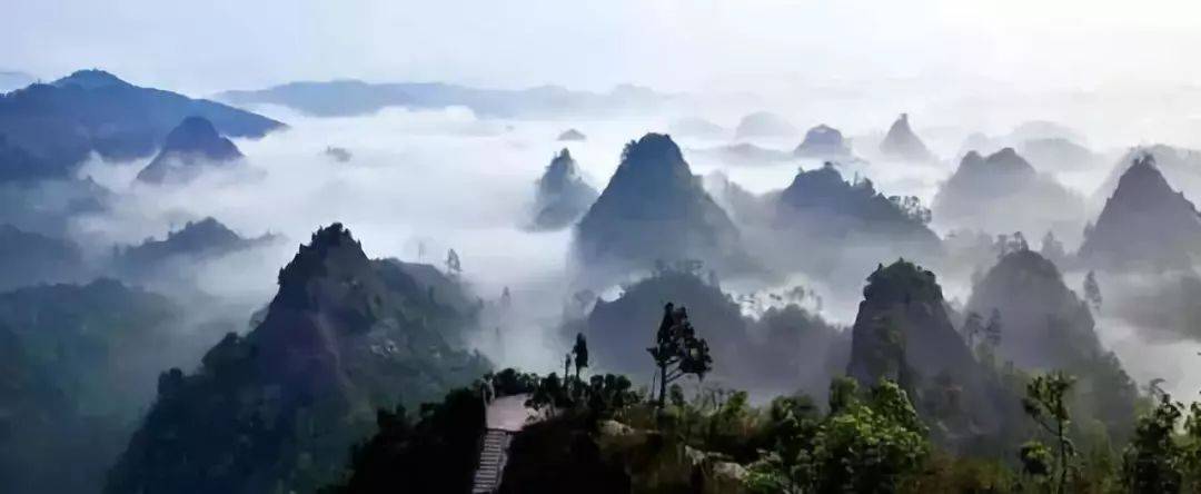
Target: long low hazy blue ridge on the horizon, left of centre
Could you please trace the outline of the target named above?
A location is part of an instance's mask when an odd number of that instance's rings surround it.
[[[557,85],[508,90],[447,83],[368,83],[355,79],[292,82],[259,90],[216,95],[232,105],[282,105],[315,117],[354,117],[383,108],[446,108],[464,106],[486,117],[597,114],[646,109],[674,96],[637,85],[608,93],[573,91]]]

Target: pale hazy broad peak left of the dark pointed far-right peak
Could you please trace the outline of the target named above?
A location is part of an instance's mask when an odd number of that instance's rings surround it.
[[[970,151],[934,195],[933,215],[950,228],[991,233],[1076,232],[1083,198],[1040,175],[1012,148],[981,156]]]

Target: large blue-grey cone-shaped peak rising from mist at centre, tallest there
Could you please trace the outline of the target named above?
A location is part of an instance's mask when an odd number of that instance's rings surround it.
[[[734,222],[692,174],[680,148],[659,133],[626,145],[575,240],[586,266],[619,270],[686,258],[733,270],[745,262]]]

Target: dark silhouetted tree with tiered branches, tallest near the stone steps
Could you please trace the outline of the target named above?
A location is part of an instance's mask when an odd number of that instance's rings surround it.
[[[663,321],[659,322],[655,346],[646,351],[659,369],[659,411],[667,405],[668,385],[689,374],[705,379],[705,374],[713,369],[709,343],[697,338],[688,322],[688,311],[682,306],[676,309],[670,302],[663,306]]]

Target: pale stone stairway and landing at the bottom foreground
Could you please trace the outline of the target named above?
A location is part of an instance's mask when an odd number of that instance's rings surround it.
[[[495,493],[501,488],[509,442],[534,413],[525,406],[527,398],[527,394],[518,394],[497,398],[488,404],[486,430],[479,445],[479,464],[476,466],[472,494]]]

